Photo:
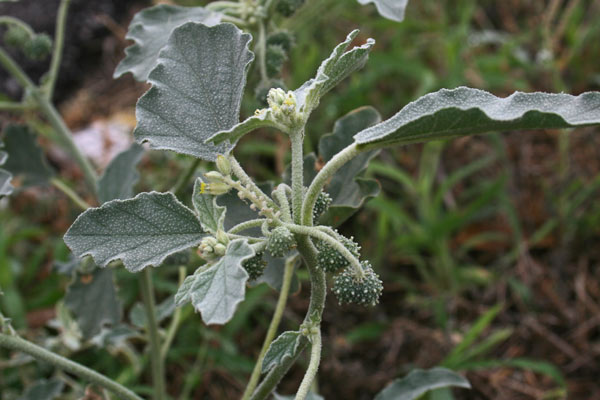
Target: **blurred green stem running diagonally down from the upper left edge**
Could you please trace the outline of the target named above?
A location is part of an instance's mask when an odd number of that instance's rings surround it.
[[[23,88],[28,89],[31,92],[31,95],[38,103],[40,111],[48,119],[48,122],[50,122],[50,125],[55,132],[60,136],[60,139],[63,141],[63,145],[65,146],[66,150],[73,155],[75,161],[79,164],[79,167],[83,171],[88,188],[94,195],[97,195],[96,181],[98,178],[96,176],[96,172],[92,168],[90,162],[83,156],[83,154],[81,154],[75,145],[75,142],[73,142],[71,132],[60,117],[58,111],[56,111],[56,108],[54,108],[46,96],[40,92],[39,88],[35,86],[25,72],[23,72],[17,63],[15,63],[15,61],[2,48],[0,48],[0,65],[2,65],[14,77]]]

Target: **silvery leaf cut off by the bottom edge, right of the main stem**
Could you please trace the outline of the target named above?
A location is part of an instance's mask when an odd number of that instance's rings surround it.
[[[377,394],[375,400],[415,400],[430,390],[450,386],[471,388],[469,381],[449,369],[415,369],[388,385]]]

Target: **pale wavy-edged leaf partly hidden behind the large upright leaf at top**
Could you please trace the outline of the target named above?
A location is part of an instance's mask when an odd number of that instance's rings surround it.
[[[156,66],[158,54],[167,44],[175,28],[186,22],[213,26],[220,21],[220,14],[202,7],[159,4],[140,11],[131,20],[125,36],[135,43],[125,49],[125,58],[117,66],[114,78],[131,72],[138,81],[145,81]]]

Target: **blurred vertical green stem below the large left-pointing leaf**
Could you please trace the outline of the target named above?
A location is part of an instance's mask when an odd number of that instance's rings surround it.
[[[156,319],[156,302],[154,300],[154,290],[152,285],[152,270],[144,269],[139,276],[142,290],[142,300],[146,310],[146,329],[150,339],[150,357],[152,363],[152,383],[154,386],[154,400],[163,400],[166,398],[165,391],[165,368],[161,356],[160,339],[158,337],[158,321]]]

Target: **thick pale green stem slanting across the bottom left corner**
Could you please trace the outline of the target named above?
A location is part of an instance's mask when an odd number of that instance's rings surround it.
[[[16,336],[9,336],[0,333],[0,347],[5,347],[10,350],[16,350],[28,354],[36,360],[45,361],[64,371],[92,382],[98,386],[110,390],[115,395],[125,400],[143,400],[140,396],[133,393],[123,385],[113,381],[112,379],[93,371],[81,364],[68,360],[58,354],[44,349],[36,344],[28,342]]]

